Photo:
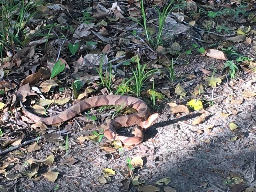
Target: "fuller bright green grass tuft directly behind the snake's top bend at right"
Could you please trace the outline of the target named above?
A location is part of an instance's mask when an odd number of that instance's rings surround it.
[[[140,65],[139,56],[137,55],[137,66],[136,69],[132,69],[133,73],[133,79],[134,79],[134,90],[136,93],[136,96],[140,96],[140,92],[142,91],[142,86],[145,83],[145,81],[153,75],[157,69],[151,69],[148,72],[145,72],[145,68],[147,64],[144,64],[143,66]]]

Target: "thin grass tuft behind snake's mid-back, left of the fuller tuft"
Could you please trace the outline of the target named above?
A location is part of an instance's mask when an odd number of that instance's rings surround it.
[[[106,87],[108,91],[111,92],[111,83],[112,83],[112,65],[111,63],[109,64],[109,71],[108,71],[108,66],[106,66],[106,72],[105,72],[105,78],[103,76],[103,71],[102,71],[102,65],[103,65],[103,57],[100,59],[100,66],[99,69],[96,68],[99,76],[100,76],[100,85],[103,87]]]

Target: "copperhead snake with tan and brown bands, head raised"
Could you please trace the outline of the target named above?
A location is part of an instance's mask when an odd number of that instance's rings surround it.
[[[120,116],[110,121],[104,129],[104,135],[109,140],[120,140],[124,145],[138,145],[143,141],[144,133],[149,126],[156,120],[158,113],[150,115],[150,108],[147,104],[135,97],[124,95],[100,95],[82,100],[70,108],[64,110],[60,114],[51,117],[40,117],[29,112],[22,102],[20,105],[23,109],[23,113],[32,119],[34,122],[41,121],[44,124],[52,125],[65,122],[77,114],[85,111],[86,109],[99,106],[117,105],[123,107],[131,107],[137,110],[137,113],[131,115]],[[132,125],[138,125],[135,127],[133,137],[125,137],[117,134],[116,130],[121,127],[129,127]]]

